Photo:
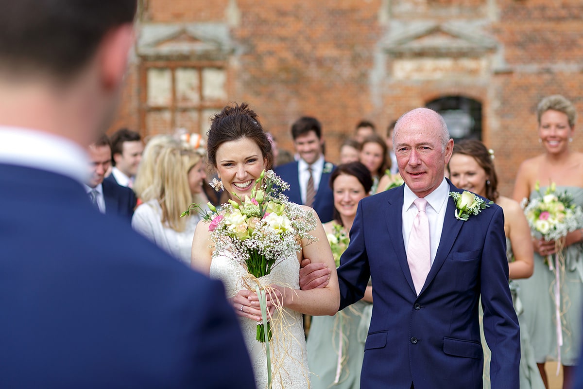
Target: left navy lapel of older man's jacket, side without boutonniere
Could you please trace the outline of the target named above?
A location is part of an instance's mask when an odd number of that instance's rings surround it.
[[[411,271],[409,270],[409,262],[407,262],[405,243],[403,242],[403,191],[404,185],[388,192],[390,197],[388,199],[389,204],[385,209],[385,222],[387,223],[389,238],[393,244],[395,255],[397,261],[399,261],[403,275],[413,293],[416,293]]]

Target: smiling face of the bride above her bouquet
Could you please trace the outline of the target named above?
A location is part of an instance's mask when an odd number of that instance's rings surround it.
[[[233,192],[240,198],[251,195],[255,180],[267,162],[257,143],[250,138],[241,138],[220,145],[216,152],[216,163],[224,190],[237,201]]]

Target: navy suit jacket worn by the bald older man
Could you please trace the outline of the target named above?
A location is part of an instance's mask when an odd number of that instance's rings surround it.
[[[403,243],[403,188],[360,201],[338,269],[340,309],[364,296],[369,276],[373,283],[361,388],[482,388],[482,295],[491,387],[518,389],[520,338],[502,209],[493,204],[463,222],[448,198],[437,255],[417,296]]]

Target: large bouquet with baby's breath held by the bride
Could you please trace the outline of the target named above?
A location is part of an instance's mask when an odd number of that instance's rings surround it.
[[[310,232],[316,219],[310,211],[287,201],[283,191],[289,185],[273,173],[262,171],[255,181],[251,196],[229,200],[221,211],[209,204],[210,214],[204,218],[209,222],[210,238],[215,243],[213,256],[229,251],[236,261],[247,269],[247,286],[257,286],[260,303],[265,303],[265,287],[259,278],[270,274],[273,267],[300,251],[301,240],[312,241]],[[264,307],[262,306],[262,310]],[[266,322],[264,325],[264,321]],[[257,340],[271,340],[269,321],[264,317],[257,325]]]

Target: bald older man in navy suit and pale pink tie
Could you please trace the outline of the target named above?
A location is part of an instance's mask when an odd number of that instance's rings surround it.
[[[394,145],[405,185],[360,201],[338,269],[340,309],[364,296],[369,277],[373,283],[361,388],[482,388],[481,296],[491,387],[518,389],[502,209],[491,204],[456,217],[462,191],[444,178],[453,141],[435,111],[403,115]],[[466,196],[468,204],[477,199]],[[313,286],[321,272],[314,269],[304,267],[303,288]]]

